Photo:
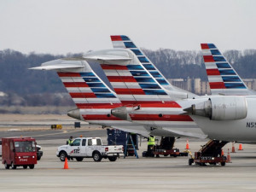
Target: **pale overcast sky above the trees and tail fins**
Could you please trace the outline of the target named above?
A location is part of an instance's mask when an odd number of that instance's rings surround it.
[[[66,54],[112,47],[256,49],[254,0],[0,0],[0,50]]]

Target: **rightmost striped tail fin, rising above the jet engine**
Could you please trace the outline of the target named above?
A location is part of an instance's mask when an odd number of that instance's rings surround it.
[[[246,84],[214,44],[201,44],[212,95],[249,95]]]

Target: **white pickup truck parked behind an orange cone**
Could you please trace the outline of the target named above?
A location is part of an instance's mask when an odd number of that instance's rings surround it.
[[[93,158],[95,161],[101,161],[105,158],[110,161],[117,160],[119,154],[123,154],[123,145],[102,145],[100,137],[78,137],[73,140],[71,145],[62,145],[58,148],[56,155],[61,161],[75,158],[82,161],[84,158]]]

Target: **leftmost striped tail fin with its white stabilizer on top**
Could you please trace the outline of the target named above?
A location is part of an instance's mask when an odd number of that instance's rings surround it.
[[[108,88],[83,58],[49,61],[32,69],[55,70],[77,108],[118,108],[120,105],[113,90]]]

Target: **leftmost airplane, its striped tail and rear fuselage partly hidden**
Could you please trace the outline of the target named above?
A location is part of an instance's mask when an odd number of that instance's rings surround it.
[[[114,60],[108,60],[114,62]],[[113,116],[111,110],[123,106],[116,93],[111,90],[102,79],[90,67],[84,58],[64,58],[54,61],[48,61],[41,67],[32,67],[36,70],[55,70],[62,83],[67,88],[70,96],[73,98],[77,108],[70,110],[67,115],[74,119],[84,120],[94,125],[102,127],[111,127],[122,131],[134,132],[148,137],[205,137],[201,131],[200,134],[193,134],[185,131],[168,131],[162,129],[152,129],[148,125],[136,124],[127,119],[120,119]],[[184,96],[186,94],[181,94]],[[126,103],[127,104],[127,103]],[[131,105],[132,103],[128,103]],[[181,108],[178,110],[182,111]]]

